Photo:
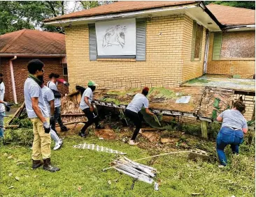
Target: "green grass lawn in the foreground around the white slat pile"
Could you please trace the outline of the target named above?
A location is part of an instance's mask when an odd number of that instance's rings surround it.
[[[157,168],[159,191],[139,181],[131,190],[133,179],[128,175],[114,169],[103,172],[117,156],[72,147],[84,142],[126,152],[129,159],[159,153],[152,147],[131,147],[122,141],[102,141],[94,135],[87,139],[67,136],[64,146],[52,151],[52,163],[61,171],[50,173],[43,168],[31,169],[29,147],[4,145],[1,147],[1,196],[255,196],[255,141],[250,146],[241,145],[238,156],[228,151],[231,164],[227,168],[218,168],[216,161],[189,161],[186,154],[139,161]],[[214,143],[211,145],[214,151]],[[8,159],[10,155],[13,158]]]

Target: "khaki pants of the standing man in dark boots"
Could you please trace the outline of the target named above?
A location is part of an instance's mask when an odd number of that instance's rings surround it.
[[[46,120],[49,123],[49,118],[46,118]],[[43,159],[50,158],[50,133],[45,134],[43,123],[39,118],[31,118],[31,122],[33,123],[34,132],[32,159],[41,160],[41,157],[43,157]]]

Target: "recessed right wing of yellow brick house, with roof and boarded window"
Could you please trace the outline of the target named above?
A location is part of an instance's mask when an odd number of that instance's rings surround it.
[[[207,8],[225,25],[222,32],[210,33],[207,73],[255,74],[255,10],[211,4]]]

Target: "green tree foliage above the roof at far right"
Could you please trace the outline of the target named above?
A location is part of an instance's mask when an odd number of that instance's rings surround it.
[[[255,10],[255,1],[204,1],[205,5],[211,3],[222,6],[232,6],[236,8],[247,8]]]

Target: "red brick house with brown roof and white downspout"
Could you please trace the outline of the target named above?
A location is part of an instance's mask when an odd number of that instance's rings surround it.
[[[0,36],[0,72],[3,73],[6,86],[6,100],[24,100],[23,85],[28,75],[27,63],[34,58],[45,63],[45,82],[49,80],[48,75],[51,72],[59,74],[67,81],[63,34],[23,29]],[[68,88],[59,88],[63,94],[68,93]]]

